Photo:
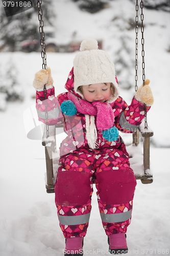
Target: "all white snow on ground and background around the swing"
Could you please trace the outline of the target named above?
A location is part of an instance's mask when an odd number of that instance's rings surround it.
[[[63,8],[66,4],[67,8]],[[132,3],[125,0],[112,1],[110,2],[112,8],[92,15],[80,12],[78,7],[68,0],[58,0],[56,5],[59,40],[68,40],[77,28],[77,37],[80,40],[87,36],[102,38],[104,48],[110,54],[113,54],[113,48],[118,48],[116,40],[119,33],[112,26],[111,20],[120,10],[125,18],[133,13]],[[79,23],[74,18],[76,15],[80,20]],[[65,18],[63,23],[61,16]],[[154,131],[150,152],[154,182],[146,185],[140,180],[137,181],[132,222],[127,232],[128,254],[168,255],[170,253],[170,175],[167,159],[170,154],[170,120],[168,118],[170,61],[166,49],[169,43],[170,22],[169,13],[163,11],[145,10],[144,17],[147,22],[145,27],[146,76],[151,80],[150,86],[155,98],[155,103],[148,114],[149,126]],[[132,31],[127,31],[126,35],[128,33],[132,37]],[[64,84],[75,54],[47,53],[47,63],[52,70],[56,95],[65,91]],[[12,58],[18,72],[18,82],[25,95],[25,101],[9,102],[7,110],[0,112],[2,148],[0,254],[1,256],[63,255],[64,238],[59,228],[54,194],[47,194],[45,190],[46,170],[41,136],[38,140],[27,138],[30,129],[35,127],[33,121],[35,115],[30,114],[29,110],[35,107],[33,98],[35,90],[32,87],[32,81],[34,74],[41,69],[41,56],[40,53],[34,52],[29,54],[3,52],[0,56],[0,66],[4,71],[8,69],[8,63]],[[112,57],[114,61],[114,55]],[[139,81],[141,81],[141,74],[139,74]],[[134,89],[127,91],[121,88],[121,84],[119,86],[120,95],[130,103]],[[23,117],[27,117],[30,122]],[[43,130],[39,123],[36,125],[38,131]],[[127,144],[130,144],[132,135],[122,135]],[[63,134],[57,135],[57,146],[63,136]],[[85,256],[109,255],[107,237],[102,227],[95,191],[94,187],[90,223],[84,241]]]

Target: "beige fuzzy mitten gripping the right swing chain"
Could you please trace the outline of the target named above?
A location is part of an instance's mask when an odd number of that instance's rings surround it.
[[[154,97],[152,95],[152,91],[151,88],[149,86],[150,80],[146,79],[144,81],[145,86],[143,86],[143,84],[139,87],[139,89],[137,90],[136,94],[135,94],[135,98],[142,102],[147,104],[147,106],[151,106],[154,103]]]

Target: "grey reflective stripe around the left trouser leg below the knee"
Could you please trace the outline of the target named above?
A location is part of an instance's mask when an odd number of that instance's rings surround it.
[[[80,224],[88,223],[90,218],[90,212],[89,214],[77,215],[77,216],[59,215],[58,218],[59,218],[59,222],[62,225],[80,225]]]

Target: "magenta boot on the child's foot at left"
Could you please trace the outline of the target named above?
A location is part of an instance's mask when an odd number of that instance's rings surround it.
[[[64,256],[83,256],[83,238],[66,238]]]

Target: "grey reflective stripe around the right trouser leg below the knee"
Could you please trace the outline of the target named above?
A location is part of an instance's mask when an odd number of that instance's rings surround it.
[[[101,219],[108,223],[127,221],[131,218],[131,211],[120,212],[119,214],[101,214]]]

